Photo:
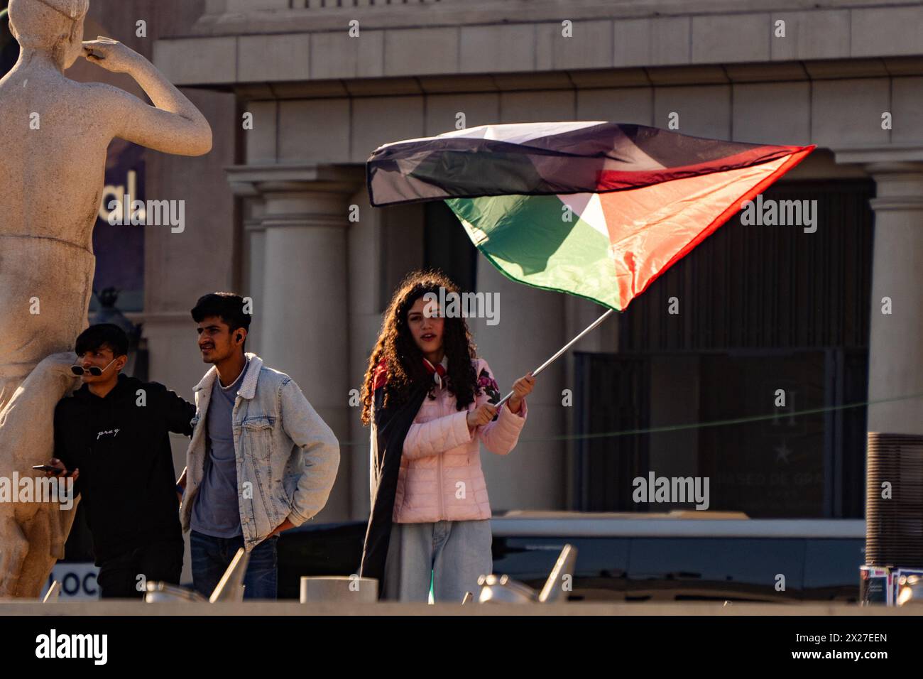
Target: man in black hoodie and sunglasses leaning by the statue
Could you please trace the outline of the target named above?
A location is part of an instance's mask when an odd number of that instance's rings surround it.
[[[190,436],[196,406],[162,384],[119,374],[127,350],[116,325],[81,333],[75,372],[83,370],[83,385],[54,410],[49,464],[59,476],[73,470],[103,598],[143,596],[148,581],[179,584],[183,570],[169,432]]]

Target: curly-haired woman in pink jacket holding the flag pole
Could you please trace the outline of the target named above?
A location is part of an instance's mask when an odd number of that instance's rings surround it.
[[[468,325],[445,317],[440,273],[410,274],[391,298],[369,358],[362,419],[371,425],[372,512],[362,575],[380,596],[461,602],[493,570],[490,502],[478,443],[507,455],[525,424],[533,376],[499,408],[497,382]],[[433,297],[427,295],[432,293]]]

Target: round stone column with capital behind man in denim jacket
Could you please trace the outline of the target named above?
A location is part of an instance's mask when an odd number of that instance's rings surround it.
[[[361,187],[363,168],[271,165],[228,172],[235,193],[258,196],[263,203],[262,302],[253,319],[260,358],[291,375],[337,438],[348,441],[347,199]],[[251,286],[259,290],[258,282]],[[345,448],[341,454],[330,502],[318,515],[321,521],[349,515],[350,456]]]

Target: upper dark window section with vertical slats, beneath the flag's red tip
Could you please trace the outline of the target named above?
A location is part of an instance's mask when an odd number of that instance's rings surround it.
[[[869,346],[874,182],[780,182],[764,197],[817,200],[817,231],[738,212],[631,302],[619,351]]]

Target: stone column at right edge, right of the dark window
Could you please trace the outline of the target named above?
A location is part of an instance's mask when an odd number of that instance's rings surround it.
[[[923,393],[923,147],[842,151],[836,160],[863,164],[877,188],[869,401]],[[923,434],[921,408],[923,398],[870,405],[868,430]]]

